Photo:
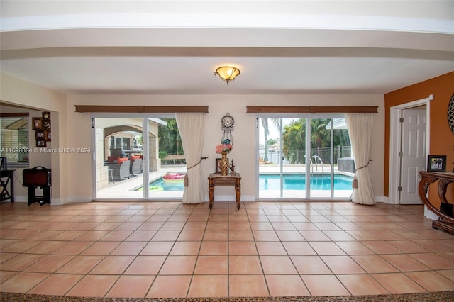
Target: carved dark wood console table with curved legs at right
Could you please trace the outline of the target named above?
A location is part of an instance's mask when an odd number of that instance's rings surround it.
[[[438,196],[442,203],[448,203],[446,200],[446,190],[448,189],[448,184],[454,181],[454,173],[421,171],[419,174],[422,177],[421,181],[419,181],[419,196],[421,196],[423,203],[429,210],[440,217],[440,220],[433,220],[432,228],[443,228],[454,233],[454,218],[441,213],[427,198],[428,187],[433,182],[438,181]]]

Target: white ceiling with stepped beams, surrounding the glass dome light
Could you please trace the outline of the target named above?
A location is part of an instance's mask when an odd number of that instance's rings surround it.
[[[452,0],[0,9],[1,72],[65,94],[384,94],[454,70]],[[221,65],[241,71],[229,86]]]

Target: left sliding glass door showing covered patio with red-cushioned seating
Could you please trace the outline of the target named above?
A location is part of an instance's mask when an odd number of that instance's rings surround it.
[[[94,199],[182,198],[186,162],[174,114],[94,116]]]

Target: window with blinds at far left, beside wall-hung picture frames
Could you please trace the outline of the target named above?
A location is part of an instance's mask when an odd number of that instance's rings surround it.
[[[8,167],[28,167],[28,113],[0,115],[0,150]]]

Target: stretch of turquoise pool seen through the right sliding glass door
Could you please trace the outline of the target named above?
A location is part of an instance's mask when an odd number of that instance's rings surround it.
[[[353,177],[334,174],[335,190],[351,190]],[[258,177],[259,190],[280,190],[279,174],[260,174]],[[306,190],[306,174],[284,174],[284,190]],[[311,190],[331,190],[331,175],[311,175]]]

